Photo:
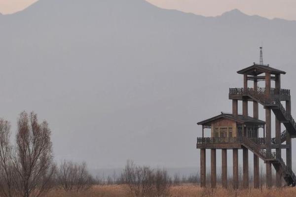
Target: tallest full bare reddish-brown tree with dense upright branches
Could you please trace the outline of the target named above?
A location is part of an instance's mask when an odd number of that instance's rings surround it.
[[[39,197],[53,187],[55,164],[50,135],[47,122],[39,124],[37,114],[20,114],[13,159],[16,196]]]

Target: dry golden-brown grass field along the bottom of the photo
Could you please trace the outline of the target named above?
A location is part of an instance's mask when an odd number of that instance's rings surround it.
[[[94,186],[88,191],[67,193],[60,190],[51,191],[46,197],[131,197],[123,185]],[[170,197],[296,197],[296,188],[273,188],[271,190],[216,190],[202,189],[194,185],[173,186]]]

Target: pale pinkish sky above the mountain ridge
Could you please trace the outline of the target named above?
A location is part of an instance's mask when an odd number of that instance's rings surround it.
[[[2,14],[24,9],[37,0],[0,0]],[[296,20],[296,0],[148,0],[163,8],[204,16],[217,16],[237,8],[249,15]]]

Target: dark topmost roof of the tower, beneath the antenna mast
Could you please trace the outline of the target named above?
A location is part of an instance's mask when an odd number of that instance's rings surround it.
[[[248,74],[248,75],[253,75],[257,76],[259,74],[262,74],[264,72],[268,72],[270,74],[286,74],[285,71],[269,67],[269,65],[259,65],[254,63],[254,65],[246,67],[244,69],[241,69],[237,71],[238,74]]]

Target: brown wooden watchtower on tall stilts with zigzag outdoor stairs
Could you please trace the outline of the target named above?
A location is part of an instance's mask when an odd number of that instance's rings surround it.
[[[227,187],[227,149],[233,152],[233,187],[238,188],[238,149],[243,150],[243,187],[249,187],[249,150],[254,154],[254,187],[259,188],[259,159],[266,164],[266,187],[272,187],[271,168],[276,170],[276,186],[282,186],[282,177],[287,185],[296,185],[292,171],[291,138],[296,137],[296,123],[291,116],[290,90],[281,89],[282,70],[269,65],[255,64],[239,70],[244,76],[243,88],[230,88],[232,114],[221,113],[197,123],[202,126],[202,137],[197,138],[200,149],[201,186],[206,186],[206,149],[211,149],[211,186],[216,187],[216,150],[222,149],[222,186]],[[248,87],[248,81],[254,81]],[[258,87],[265,81],[265,87]],[[271,87],[275,81],[275,87]],[[242,114],[238,114],[238,102],[242,101]],[[253,117],[248,114],[248,104],[253,102]],[[286,104],[286,107],[282,103]],[[265,121],[259,120],[259,104],[265,110]],[[275,137],[271,137],[271,111],[275,115]],[[281,124],[286,130],[281,132]],[[211,137],[204,137],[205,129],[211,129]],[[261,133],[260,133],[261,132]],[[261,137],[259,137],[259,135]],[[262,137],[263,136],[263,137]],[[275,152],[272,150],[275,149]],[[286,164],[281,150],[286,149]]]

